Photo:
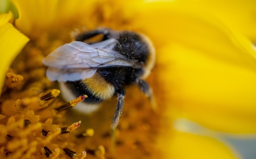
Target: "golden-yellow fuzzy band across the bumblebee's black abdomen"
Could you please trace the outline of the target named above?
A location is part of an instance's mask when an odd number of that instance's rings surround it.
[[[115,87],[108,83],[98,73],[95,73],[91,78],[83,80],[86,88],[98,98],[103,100],[111,98],[115,93]]]

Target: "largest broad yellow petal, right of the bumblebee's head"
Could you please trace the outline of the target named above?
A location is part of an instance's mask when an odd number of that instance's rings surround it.
[[[133,25],[156,46],[159,105],[211,129],[255,133],[254,45],[210,14],[171,2],[139,11]]]

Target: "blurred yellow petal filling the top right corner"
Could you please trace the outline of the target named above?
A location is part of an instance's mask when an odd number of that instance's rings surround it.
[[[211,13],[227,26],[256,41],[255,0],[179,0],[186,9]]]

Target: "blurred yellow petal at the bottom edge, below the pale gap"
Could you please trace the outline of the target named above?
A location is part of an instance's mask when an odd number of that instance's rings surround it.
[[[159,135],[163,159],[240,159],[229,145],[212,138],[180,131]]]

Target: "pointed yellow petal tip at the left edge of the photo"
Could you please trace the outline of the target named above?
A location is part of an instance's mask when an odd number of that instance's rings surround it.
[[[9,20],[11,20],[11,12],[0,15],[0,93],[9,66],[29,41],[25,35],[20,33],[20,31],[8,22]]]

